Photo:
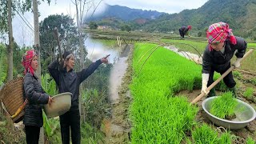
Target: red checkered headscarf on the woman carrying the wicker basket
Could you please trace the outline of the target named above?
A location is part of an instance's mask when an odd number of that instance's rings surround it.
[[[26,53],[23,55],[22,58],[22,66],[24,66],[24,74],[26,74],[28,71],[34,75],[34,70],[31,66],[32,59],[36,54],[34,50],[27,50]]]

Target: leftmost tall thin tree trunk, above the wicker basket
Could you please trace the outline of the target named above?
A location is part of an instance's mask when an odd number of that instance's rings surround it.
[[[12,1],[8,0],[8,35],[9,35],[9,46],[7,46],[7,61],[8,61],[8,72],[7,72],[7,81],[13,79],[13,66],[14,66],[14,37],[13,37],[13,26],[12,26],[12,18],[11,18],[11,7]]]

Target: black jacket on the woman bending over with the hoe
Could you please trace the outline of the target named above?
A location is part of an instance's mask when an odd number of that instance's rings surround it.
[[[222,54],[221,51],[209,50],[208,46],[206,46],[206,50],[202,56],[202,73],[210,74],[210,70],[214,68],[217,72],[225,69],[226,66],[230,65],[230,59],[234,55],[234,51],[236,52],[237,58],[242,58],[246,53],[247,43],[243,38],[235,37],[237,39],[237,44],[233,45],[230,41],[226,41],[225,43],[225,52]]]

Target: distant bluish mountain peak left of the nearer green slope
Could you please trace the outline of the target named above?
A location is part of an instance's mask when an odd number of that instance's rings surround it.
[[[138,10],[138,9],[131,9],[126,6],[110,6],[106,4],[106,10],[102,12],[102,14],[94,15],[94,17],[87,19],[86,21],[98,21],[104,18],[117,18],[121,19],[122,21],[133,21],[138,18],[144,19],[155,19],[158,18],[161,13],[155,10]]]

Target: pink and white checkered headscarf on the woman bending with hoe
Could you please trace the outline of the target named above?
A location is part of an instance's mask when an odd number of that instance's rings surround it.
[[[229,28],[229,25],[225,22],[214,23],[209,26],[206,31],[206,37],[209,43],[209,50],[213,50],[210,46],[211,43],[215,42],[225,42],[229,38],[231,44],[236,44],[237,40],[232,33],[232,29]]]

